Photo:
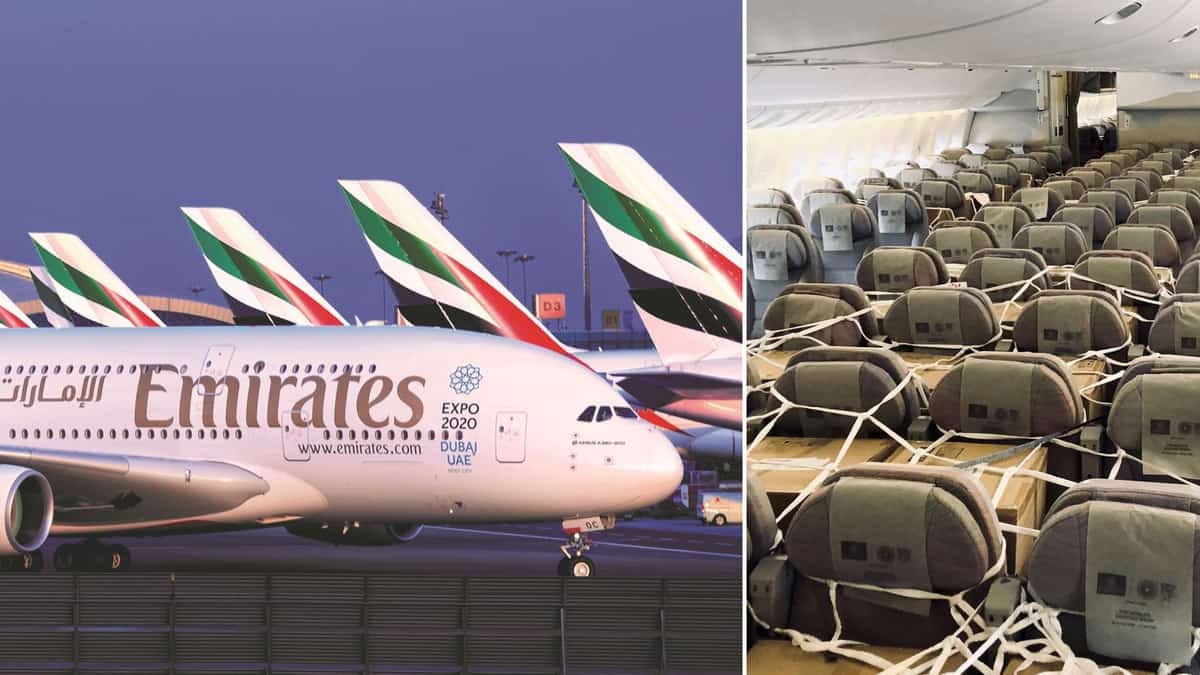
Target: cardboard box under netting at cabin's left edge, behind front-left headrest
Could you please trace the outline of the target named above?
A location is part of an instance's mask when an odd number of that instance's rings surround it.
[[[822,468],[838,456],[842,438],[793,438],[788,436],[768,436],[750,449],[746,466],[755,473],[767,497],[772,510],[776,514],[792,503]],[[889,461],[900,446],[890,438],[856,438],[846,450],[841,465],[853,466],[868,461]],[[906,453],[907,454],[907,453]],[[770,465],[764,460],[792,460],[785,465]],[[787,530],[787,520],[779,524]]]

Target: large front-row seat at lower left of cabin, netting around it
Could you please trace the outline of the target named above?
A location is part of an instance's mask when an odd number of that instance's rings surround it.
[[[996,510],[968,472],[882,462],[841,468],[796,509],[787,527],[787,562],[796,571],[788,626],[818,639],[830,639],[840,626],[842,639],[869,645],[937,644],[958,631],[947,601],[914,603],[887,591],[845,585],[830,593],[816,579],[965,592],[974,604],[986,593],[1002,542]],[[864,558],[882,544],[920,555],[913,565],[894,566],[894,573],[881,577]]]

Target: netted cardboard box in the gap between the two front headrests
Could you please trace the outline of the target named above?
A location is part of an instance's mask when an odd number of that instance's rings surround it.
[[[953,460],[954,462],[961,462],[982,458],[984,455],[1010,448],[1012,446],[1013,443],[949,442],[938,446],[937,449],[934,450],[934,454]],[[989,466],[996,468],[1008,468],[1020,464],[1021,460],[1024,460],[1030,453],[1037,453],[1037,455],[1030,461],[1030,464],[1026,465],[1026,467],[1033,471],[1045,471],[1045,448],[1028,450],[1019,455],[989,462]],[[911,455],[907,452],[898,452],[893,454],[892,461],[907,462],[910,456]],[[936,462],[936,460],[925,461]],[[935,465],[953,466],[948,462],[936,462]],[[985,472],[980,477],[979,482],[983,484],[988,495],[995,495],[996,488],[1000,486],[1000,478],[998,473]],[[1042,526],[1042,515],[1045,514],[1045,483],[1028,476],[1014,476],[1013,479],[1008,482],[1004,494],[1001,495],[1000,503],[996,504],[996,515],[1000,518],[1001,522],[1037,528]],[[1008,569],[1016,574],[1022,574],[1025,572],[1025,562],[1033,551],[1033,538],[1018,537],[1010,532],[1006,532],[1004,538],[1008,540]]]

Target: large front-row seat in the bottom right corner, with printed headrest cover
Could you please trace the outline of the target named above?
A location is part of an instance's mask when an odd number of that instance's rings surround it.
[[[1196,513],[1200,496],[1182,484],[1091,479],[1054,502],[1026,566],[1028,589],[1037,602],[1058,610],[1061,639],[1078,657],[1118,661],[1127,669],[1151,673],[1159,663],[1192,662],[1192,627],[1200,625],[1200,603],[1186,599],[1190,611],[1172,617],[1156,598],[1200,584]],[[1142,540],[1153,540],[1158,555],[1129,549],[1129,542]],[[1100,578],[1120,589],[1105,591]],[[1117,595],[1126,583],[1129,596],[1136,589],[1133,597],[1146,598],[1134,602],[1154,608],[1153,634],[1159,638],[1129,639],[1128,633],[1106,632],[1115,608],[1103,593]]]

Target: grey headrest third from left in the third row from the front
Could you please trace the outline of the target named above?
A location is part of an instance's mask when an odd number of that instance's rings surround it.
[[[1013,342],[1022,352],[1075,357],[1111,350],[1129,340],[1129,325],[1116,299],[1100,291],[1039,291],[1013,323]]]

